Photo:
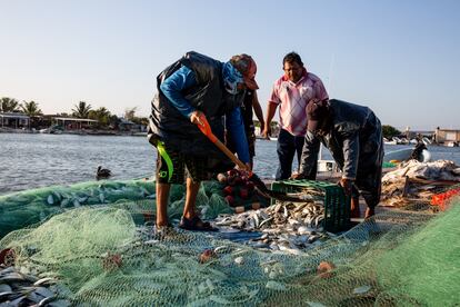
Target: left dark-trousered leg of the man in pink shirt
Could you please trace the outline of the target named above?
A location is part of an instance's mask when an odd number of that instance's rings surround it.
[[[294,137],[288,131],[281,129],[278,136],[277,154],[279,167],[276,180],[288,179],[292,175],[292,160],[296,152]]]

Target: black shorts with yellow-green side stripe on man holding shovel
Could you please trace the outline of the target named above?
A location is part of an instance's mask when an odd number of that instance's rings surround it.
[[[182,185],[187,177],[194,182],[209,180],[206,170],[208,159],[186,156],[176,150],[168,149],[164,145],[157,145],[157,182]]]

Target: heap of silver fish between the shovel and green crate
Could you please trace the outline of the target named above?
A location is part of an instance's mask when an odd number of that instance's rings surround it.
[[[306,202],[277,202],[268,208],[250,210],[239,215],[221,215],[216,226],[262,235],[248,241],[254,248],[281,250],[298,255],[320,244],[332,234],[322,231],[324,207],[322,200]]]

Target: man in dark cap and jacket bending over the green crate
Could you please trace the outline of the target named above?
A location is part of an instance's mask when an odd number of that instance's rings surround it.
[[[314,179],[320,142],[332,154],[342,170],[340,185],[351,195],[351,217],[359,217],[359,195],[374,215],[380,201],[383,138],[380,120],[368,107],[336,99],[310,100],[307,106],[308,132],[299,175],[293,179]]]

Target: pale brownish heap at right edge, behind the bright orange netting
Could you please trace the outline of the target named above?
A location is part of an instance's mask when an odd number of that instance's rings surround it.
[[[382,178],[382,204],[404,206],[413,201],[429,201],[446,187],[460,184],[460,167],[449,160],[419,162],[410,160]]]

